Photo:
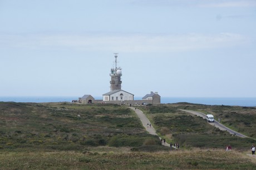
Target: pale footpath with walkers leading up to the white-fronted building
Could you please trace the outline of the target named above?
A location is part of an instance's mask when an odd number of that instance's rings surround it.
[[[133,111],[135,111],[135,113],[137,114],[137,116],[140,118],[140,121],[141,123],[143,124],[143,126],[145,127],[146,131],[149,132],[149,134],[152,134],[152,135],[156,135],[156,130],[153,126],[151,126],[151,128],[147,128],[147,123],[151,124],[149,119],[146,117],[146,115],[140,110],[140,109],[137,109],[137,108],[134,108],[134,107],[129,107],[130,109],[132,109]],[[159,140],[161,138],[159,137]],[[162,143],[162,145],[166,146],[166,147],[170,147],[170,144],[169,143]]]

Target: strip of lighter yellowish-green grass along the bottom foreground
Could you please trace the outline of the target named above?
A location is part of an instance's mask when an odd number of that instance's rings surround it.
[[[1,152],[2,169],[254,169],[237,152]]]

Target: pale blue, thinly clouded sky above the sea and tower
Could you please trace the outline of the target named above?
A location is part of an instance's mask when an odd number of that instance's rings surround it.
[[[0,0],[0,96],[256,97],[255,0]]]

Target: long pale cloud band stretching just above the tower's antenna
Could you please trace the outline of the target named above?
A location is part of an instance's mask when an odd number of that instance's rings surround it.
[[[249,38],[219,34],[21,34],[0,36],[0,48],[70,48],[83,51],[180,52],[240,46]]]

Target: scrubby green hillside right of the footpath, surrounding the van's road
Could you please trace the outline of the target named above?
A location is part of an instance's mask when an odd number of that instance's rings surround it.
[[[235,149],[247,150],[255,140],[240,138],[220,131],[201,117],[179,111],[191,109],[203,113],[211,113],[215,119],[220,117],[221,123],[240,133],[255,137],[256,108],[205,106],[201,104],[163,104],[159,106],[141,107],[152,120],[157,132],[169,142],[179,143],[181,147],[225,148],[227,145]]]

